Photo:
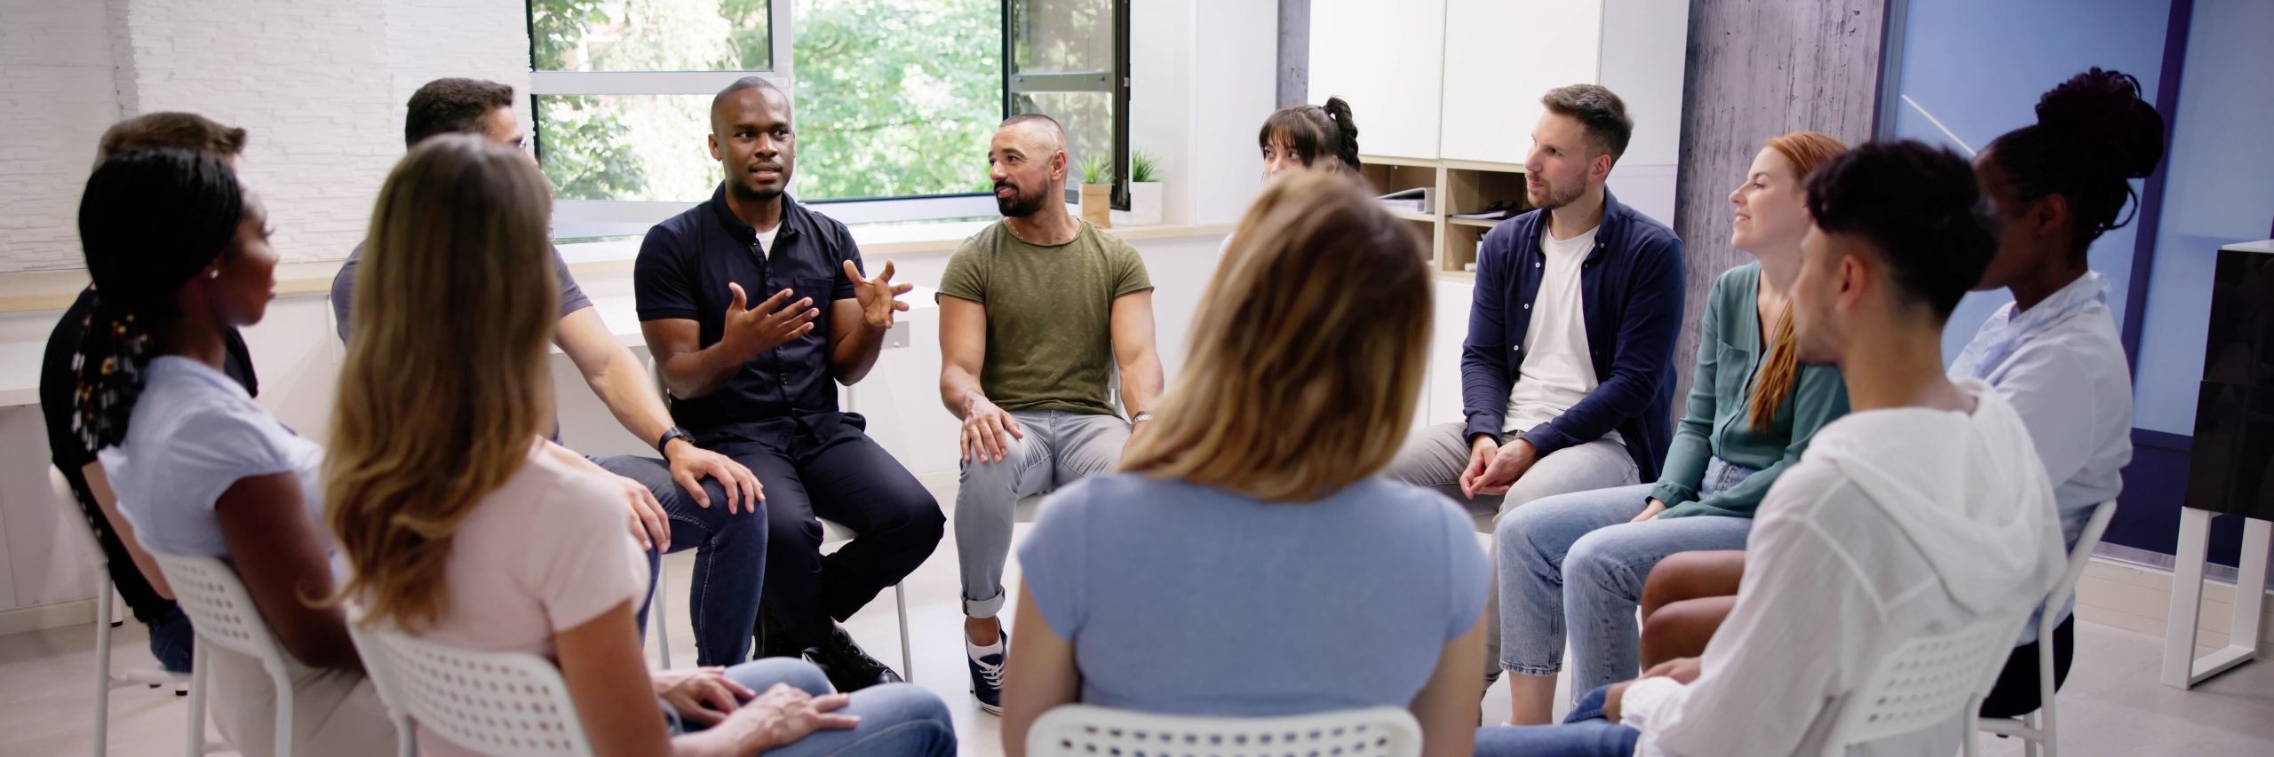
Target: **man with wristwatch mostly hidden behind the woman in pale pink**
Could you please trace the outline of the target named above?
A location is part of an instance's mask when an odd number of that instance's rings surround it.
[[[493,143],[518,148],[523,136],[514,118],[514,89],[480,80],[434,80],[418,86],[402,118],[402,143],[416,145],[434,134],[482,134]],[[332,314],[339,316],[341,341],[355,332],[348,316],[362,255],[364,248],[355,246],[332,277]],[[553,252],[553,280],[559,284],[553,343],[568,355],[616,423],[653,443],[662,459],[584,457],[559,443],[550,443],[550,452],[575,466],[616,475],[630,509],[632,536],[648,550],[657,571],[664,552],[696,550],[696,580],[687,582],[696,664],[730,666],[748,659],[766,561],[766,518],[757,514],[762,509],[757,477],[725,455],[696,448],[694,439],[673,425],[646,364],[607,332],[591,298],[568,275],[559,250]],[[646,609],[639,616],[644,623]]]

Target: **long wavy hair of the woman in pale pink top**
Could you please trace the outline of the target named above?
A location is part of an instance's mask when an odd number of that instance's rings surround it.
[[[450,534],[553,411],[550,191],[518,150],[421,141],[380,189],[325,461],[325,525],[364,623],[448,612]]]

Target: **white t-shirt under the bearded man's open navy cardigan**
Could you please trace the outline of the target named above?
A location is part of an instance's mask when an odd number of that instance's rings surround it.
[[[1580,268],[1587,264],[1587,252],[1594,252],[1599,230],[1555,239],[1546,223],[1539,225],[1539,252],[1546,257],[1539,271],[1539,293],[1530,302],[1512,302],[1512,307],[1530,309],[1533,321],[1524,330],[1524,368],[1517,371],[1517,384],[1508,389],[1503,432],[1517,434],[1555,421],[1601,384],[1587,350],[1587,305],[1580,302],[1578,286]],[[1603,439],[1621,441],[1619,432],[1608,432]]]

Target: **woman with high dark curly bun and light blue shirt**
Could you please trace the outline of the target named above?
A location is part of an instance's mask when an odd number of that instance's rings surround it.
[[[2060,530],[2076,546],[2092,507],[2115,500],[2131,461],[2131,368],[2108,311],[2108,277],[2085,259],[2092,241],[2140,211],[2131,180],[2163,161],[2163,116],[2126,73],[2092,68],[2038,100],[2038,123],[1976,159],[1999,223],[1999,250],[1976,291],[2008,289],[2012,305],[1983,321],[1951,377],[1997,386],[2022,414],[2053,480]],[[2074,618],[2053,630],[2053,682],[2067,680]],[[2038,618],[2022,630],[1985,718],[2038,709]]]

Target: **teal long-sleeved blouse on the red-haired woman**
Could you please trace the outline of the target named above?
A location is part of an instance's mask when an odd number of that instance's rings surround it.
[[[1769,427],[1753,427],[1746,409],[1753,402],[1760,361],[1769,352],[1762,348],[1760,307],[1753,305],[1758,296],[1760,264],[1728,268],[1712,282],[1706,325],[1699,332],[1699,368],[1690,384],[1690,411],[1674,427],[1667,466],[1658,475],[1658,486],[1651,486],[1651,496],[1667,502],[1660,518],[1751,518],[1776,475],[1808,450],[1808,439],[1846,414],[1846,384],[1840,380],[1840,368],[1801,366],[1792,393],[1776,407],[1776,421]],[[1699,500],[1699,482],[1712,457],[1760,473]]]

